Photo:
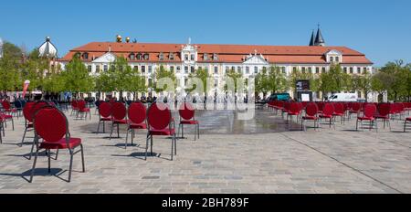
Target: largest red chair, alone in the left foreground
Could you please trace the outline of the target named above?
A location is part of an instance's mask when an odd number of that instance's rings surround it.
[[[58,111],[57,108],[46,106],[35,114],[33,120],[35,128],[35,143],[36,154],[33,162],[33,168],[30,175],[29,182],[33,182],[33,175],[36,170],[36,163],[39,150],[46,150],[48,158],[48,173],[51,172],[51,156],[50,150],[67,149],[70,155],[70,164],[68,169],[68,182],[71,181],[71,171],[73,166],[74,154],[81,153],[82,172],[85,173],[84,165],[84,151],[80,138],[71,137],[68,130],[68,120],[63,112]],[[39,143],[39,138],[43,139],[42,143]],[[80,150],[76,151],[79,147]]]

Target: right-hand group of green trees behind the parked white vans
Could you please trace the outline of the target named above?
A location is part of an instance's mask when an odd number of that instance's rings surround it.
[[[295,90],[297,80],[309,80],[311,90],[323,94],[349,90],[363,91],[367,96],[375,91],[381,95],[387,92],[391,101],[411,98],[411,64],[404,65],[401,60],[389,62],[374,75],[369,72],[352,75],[344,72],[340,65],[334,65],[320,75],[296,70],[287,77],[278,67],[271,67],[256,76],[256,92],[266,95]]]

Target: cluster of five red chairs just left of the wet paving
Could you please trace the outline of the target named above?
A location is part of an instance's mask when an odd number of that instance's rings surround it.
[[[163,103],[153,103],[148,110],[141,102],[132,102],[127,109],[121,102],[100,102],[99,105],[100,121],[97,128],[97,133],[100,132],[100,124],[103,123],[103,132],[105,132],[105,122],[111,122],[111,135],[114,126],[117,128],[117,135],[120,137],[120,125],[127,125],[127,135],[125,148],[128,146],[129,132],[132,132],[132,144],[135,130],[147,130],[146,152],[145,159],[147,159],[147,151],[149,140],[151,141],[151,153],[153,154],[153,136],[173,136],[172,141],[172,160],[173,155],[176,154],[176,133],[174,118],[168,106]],[[199,138],[199,122],[195,120],[194,107],[185,102],[179,110],[180,123],[177,134],[182,129],[182,137],[184,137],[184,125],[195,125],[195,139]],[[174,154],[173,154],[174,148]]]

